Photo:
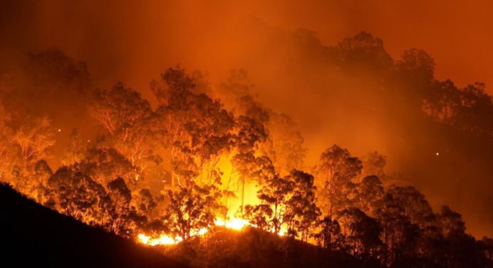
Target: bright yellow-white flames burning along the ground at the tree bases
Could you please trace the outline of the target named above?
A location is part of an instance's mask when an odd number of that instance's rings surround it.
[[[225,228],[231,229],[231,230],[237,230],[237,231],[242,230],[246,226],[256,227],[256,225],[252,225],[247,220],[240,219],[240,218],[233,218],[233,219],[230,219],[227,221],[216,219],[216,220],[214,220],[214,225],[225,227]],[[203,229],[198,230],[196,232],[192,232],[192,236],[204,235],[205,233],[207,233],[207,228],[203,228]],[[281,230],[278,235],[283,236],[284,233],[285,233],[284,230]],[[179,236],[173,238],[167,234],[160,234],[159,237],[150,237],[146,234],[138,234],[137,240],[138,240],[138,242],[140,242],[142,244],[147,244],[150,246],[157,246],[157,245],[178,244],[178,243],[182,242],[183,239],[182,239],[182,237],[179,237]]]

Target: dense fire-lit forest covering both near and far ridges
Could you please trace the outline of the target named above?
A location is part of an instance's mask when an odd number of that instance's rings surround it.
[[[484,84],[437,81],[425,51],[393,59],[382,40],[361,32],[314,56],[327,76],[371,76],[364,94],[396,121],[491,147]],[[475,239],[446,205],[433,210],[420,190],[386,172],[378,151],[356,156],[326,140],[308,165],[303,130],[253,87],[243,69],[212,85],[174,66],[151,81],[147,100],[125,83],[96,88],[86,64],[57,49],[29,53],[1,76],[0,181],[88,225],[170,244],[163,251],[196,267],[231,265],[234,255],[212,252],[227,241],[224,227],[237,229],[229,236],[312,244],[327,258],[348,254],[367,267],[493,267],[493,239]],[[68,140],[57,139],[67,131]]]

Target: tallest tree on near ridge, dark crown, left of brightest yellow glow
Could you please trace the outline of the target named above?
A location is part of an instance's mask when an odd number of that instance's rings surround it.
[[[156,113],[167,133],[172,169],[172,187],[197,177],[206,168],[207,183],[219,157],[229,149],[234,126],[232,114],[219,100],[199,93],[196,77],[177,66],[152,81],[151,89],[160,106]]]

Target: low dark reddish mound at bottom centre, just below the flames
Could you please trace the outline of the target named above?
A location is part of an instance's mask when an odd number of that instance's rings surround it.
[[[167,256],[192,267],[380,267],[341,251],[279,237],[253,227],[238,232],[217,227],[202,239],[162,247]]]

